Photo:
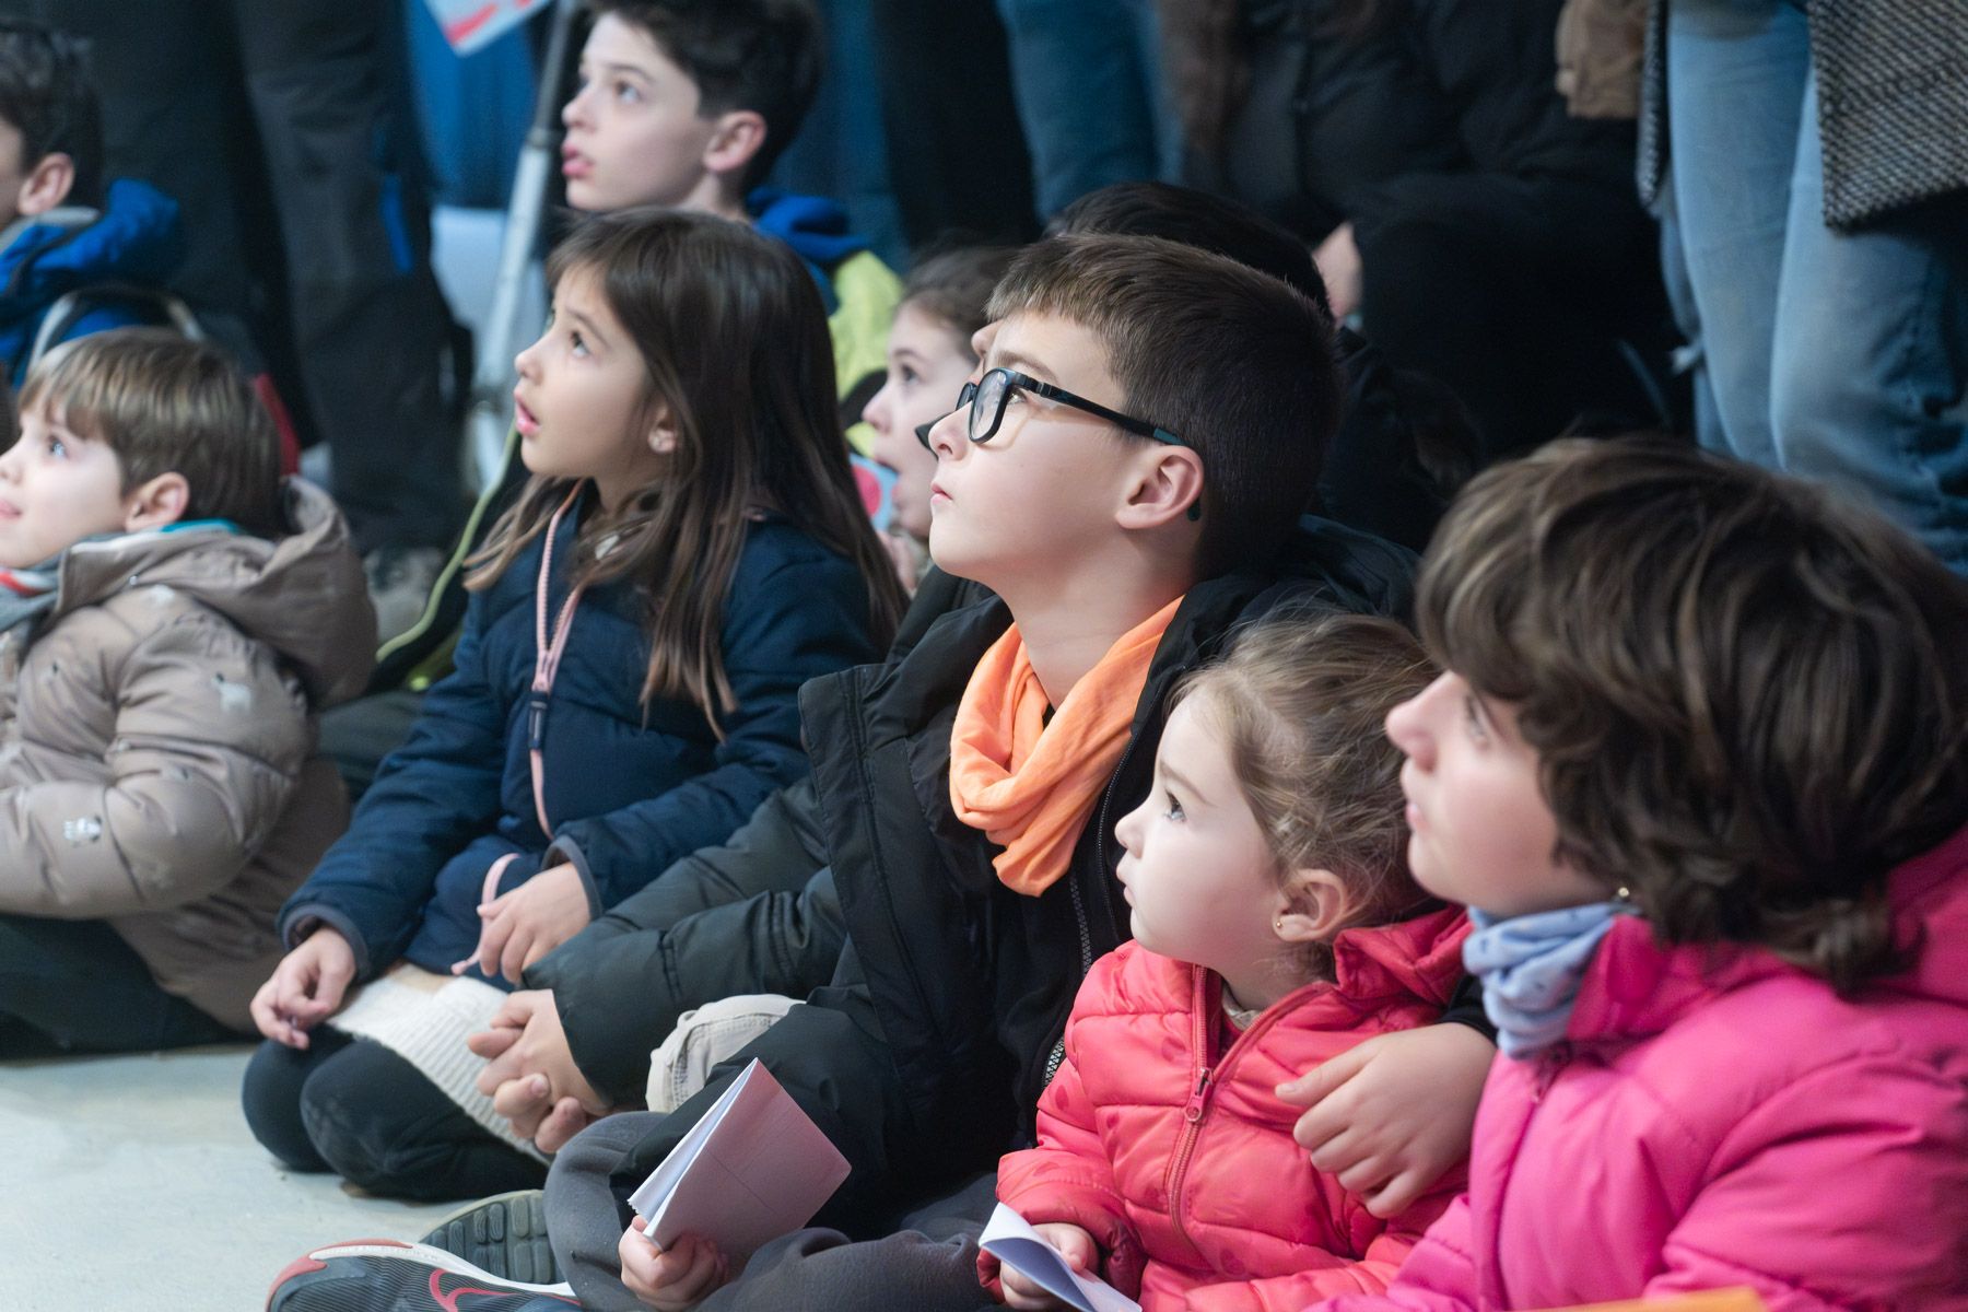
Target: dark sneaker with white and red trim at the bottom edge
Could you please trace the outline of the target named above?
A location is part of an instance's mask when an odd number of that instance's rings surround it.
[[[268,1312],[567,1312],[565,1284],[525,1284],[480,1271],[457,1253],[400,1239],[350,1239],[315,1249],[274,1281]]]

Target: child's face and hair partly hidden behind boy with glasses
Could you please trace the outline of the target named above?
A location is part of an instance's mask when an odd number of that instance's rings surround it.
[[[992,287],[1015,254],[1004,246],[960,246],[925,256],[909,269],[888,330],[888,378],[862,409],[874,433],[868,454],[895,476],[886,541],[909,592],[929,567],[929,480],[937,476],[929,427],[951,413],[951,397],[976,370],[970,338],[984,327]]]

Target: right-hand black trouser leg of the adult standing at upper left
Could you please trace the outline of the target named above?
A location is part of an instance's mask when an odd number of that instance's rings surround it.
[[[234,0],[279,214],[293,344],[358,547],[449,547],[461,425],[451,313],[384,0]]]

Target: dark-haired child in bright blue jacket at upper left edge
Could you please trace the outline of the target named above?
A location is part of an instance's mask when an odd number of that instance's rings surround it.
[[[35,346],[150,321],[181,242],[175,201],[134,179],[104,189],[73,37],[0,18],[0,368],[18,384]]]

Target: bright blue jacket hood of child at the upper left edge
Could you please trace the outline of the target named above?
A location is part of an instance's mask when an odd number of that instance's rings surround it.
[[[118,179],[100,212],[57,209],[0,232],[0,307],[39,311],[89,283],[161,283],[183,248],[177,201],[150,183]],[[0,317],[14,311],[0,309]]]

